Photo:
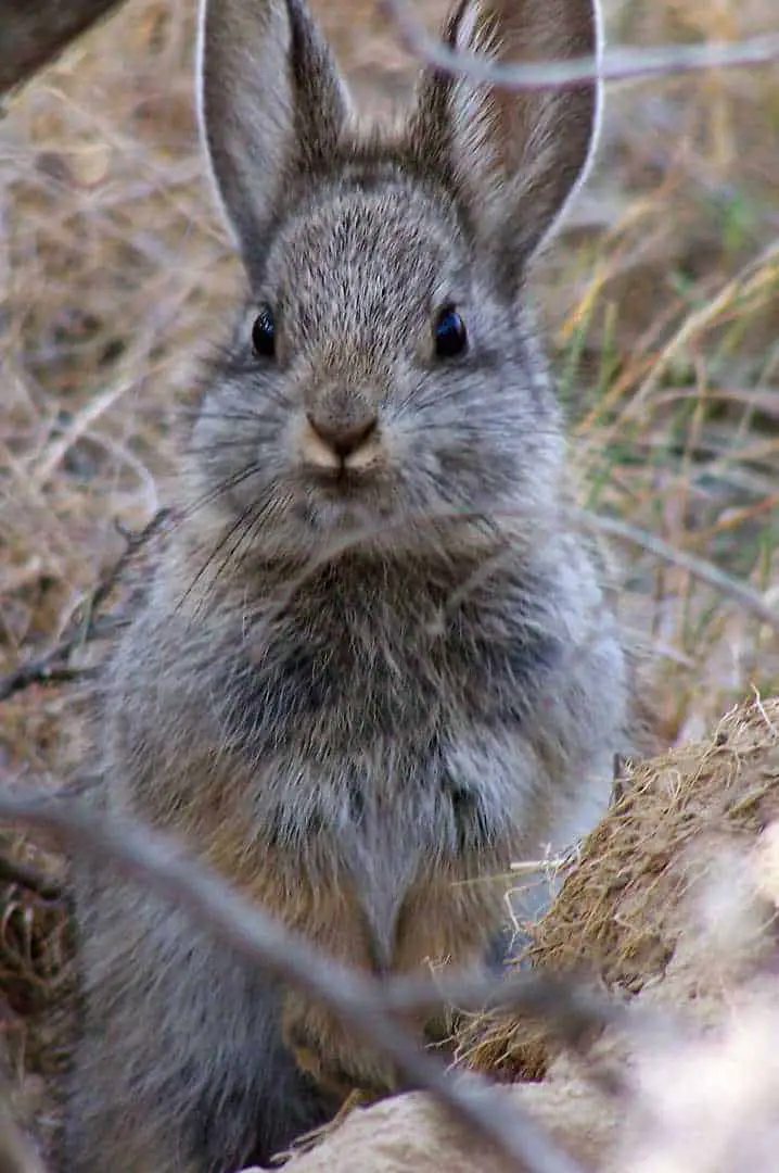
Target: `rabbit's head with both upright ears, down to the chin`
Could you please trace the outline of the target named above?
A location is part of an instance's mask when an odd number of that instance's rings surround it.
[[[465,0],[444,43],[592,55],[596,0]],[[367,128],[302,0],[205,0],[199,77],[250,287],[189,456],[225,541],[308,555],[356,528],[409,549],[477,515],[542,533],[563,447],[524,278],[588,169],[597,84],[429,67],[403,122]]]

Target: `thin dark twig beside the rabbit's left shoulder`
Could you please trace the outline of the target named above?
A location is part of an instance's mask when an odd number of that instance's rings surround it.
[[[73,667],[68,660],[74,651],[97,633],[101,606],[119,582],[130,561],[162,528],[168,517],[169,510],[160,509],[149,524],[137,534],[122,530],[122,536],[125,540],[124,550],[87,598],[78,622],[69,625],[66,635],[57,640],[54,647],[26,664],[20,664],[13,672],[0,678],[0,701],[29,689],[33,684],[61,684],[74,679],[84,679],[91,674],[90,669]]]

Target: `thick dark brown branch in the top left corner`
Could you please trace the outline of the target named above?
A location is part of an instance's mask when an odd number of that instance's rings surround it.
[[[0,99],[124,0],[0,0]]]

